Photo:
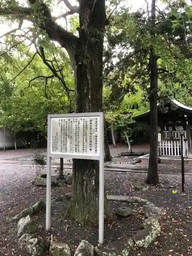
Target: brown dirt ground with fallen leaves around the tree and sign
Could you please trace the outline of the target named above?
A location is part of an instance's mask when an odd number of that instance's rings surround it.
[[[111,155],[117,155],[125,150],[126,147],[123,146],[115,149],[111,147]],[[148,145],[136,146],[134,151],[146,153]],[[42,152],[46,151],[42,150]],[[24,249],[18,246],[16,224],[7,220],[36,201],[45,200],[46,188],[35,187],[31,184],[35,176],[34,164],[31,163],[32,154],[32,150],[0,152],[0,256],[29,256]],[[118,160],[130,161],[126,158]],[[137,167],[142,165],[147,166],[147,160],[142,159],[142,163],[137,164]],[[180,161],[163,160],[159,166],[165,171],[175,169],[176,174],[160,174],[160,182],[163,186],[155,188],[143,185],[146,174],[105,172],[105,189],[108,195],[140,196],[162,209],[159,238],[150,248],[141,251],[135,248],[131,253],[133,256],[185,256],[192,253],[192,176],[185,176],[185,192],[182,193],[181,175],[177,175],[180,173]],[[185,162],[186,169],[190,169],[191,166],[191,162]],[[69,185],[52,188],[52,229],[50,233],[45,232],[45,213],[41,212],[34,217],[39,225],[39,232],[49,238],[52,234],[54,239],[70,243],[72,250],[82,239],[96,245],[97,225],[88,228],[69,220],[61,222],[62,213],[69,204],[63,195],[70,191]],[[62,198],[62,201],[59,198]],[[110,205],[113,211],[116,207],[123,206],[124,203],[110,202]],[[106,221],[104,244],[116,246],[121,250],[126,239],[131,238],[140,228],[142,220],[142,209],[140,209],[125,219],[113,217]]]

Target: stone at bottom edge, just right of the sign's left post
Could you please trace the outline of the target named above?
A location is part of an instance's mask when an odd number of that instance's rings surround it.
[[[69,245],[52,242],[49,249],[50,256],[71,256]]]

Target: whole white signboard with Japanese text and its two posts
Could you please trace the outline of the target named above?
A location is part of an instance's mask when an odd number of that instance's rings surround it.
[[[99,243],[104,229],[104,114],[48,115],[46,230],[51,226],[51,158],[99,160]]]

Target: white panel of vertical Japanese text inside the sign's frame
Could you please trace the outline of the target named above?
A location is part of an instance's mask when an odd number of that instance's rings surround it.
[[[51,118],[51,154],[99,157],[100,117]]]

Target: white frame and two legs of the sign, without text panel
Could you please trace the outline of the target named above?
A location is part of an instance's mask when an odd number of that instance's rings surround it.
[[[99,118],[99,154],[98,156],[80,154],[58,154],[51,153],[51,119],[52,118]],[[72,114],[51,114],[48,115],[48,136],[47,136],[47,187],[46,187],[46,230],[51,227],[51,158],[72,157],[74,159],[99,160],[99,244],[103,244],[104,234],[104,113],[72,113]]]

